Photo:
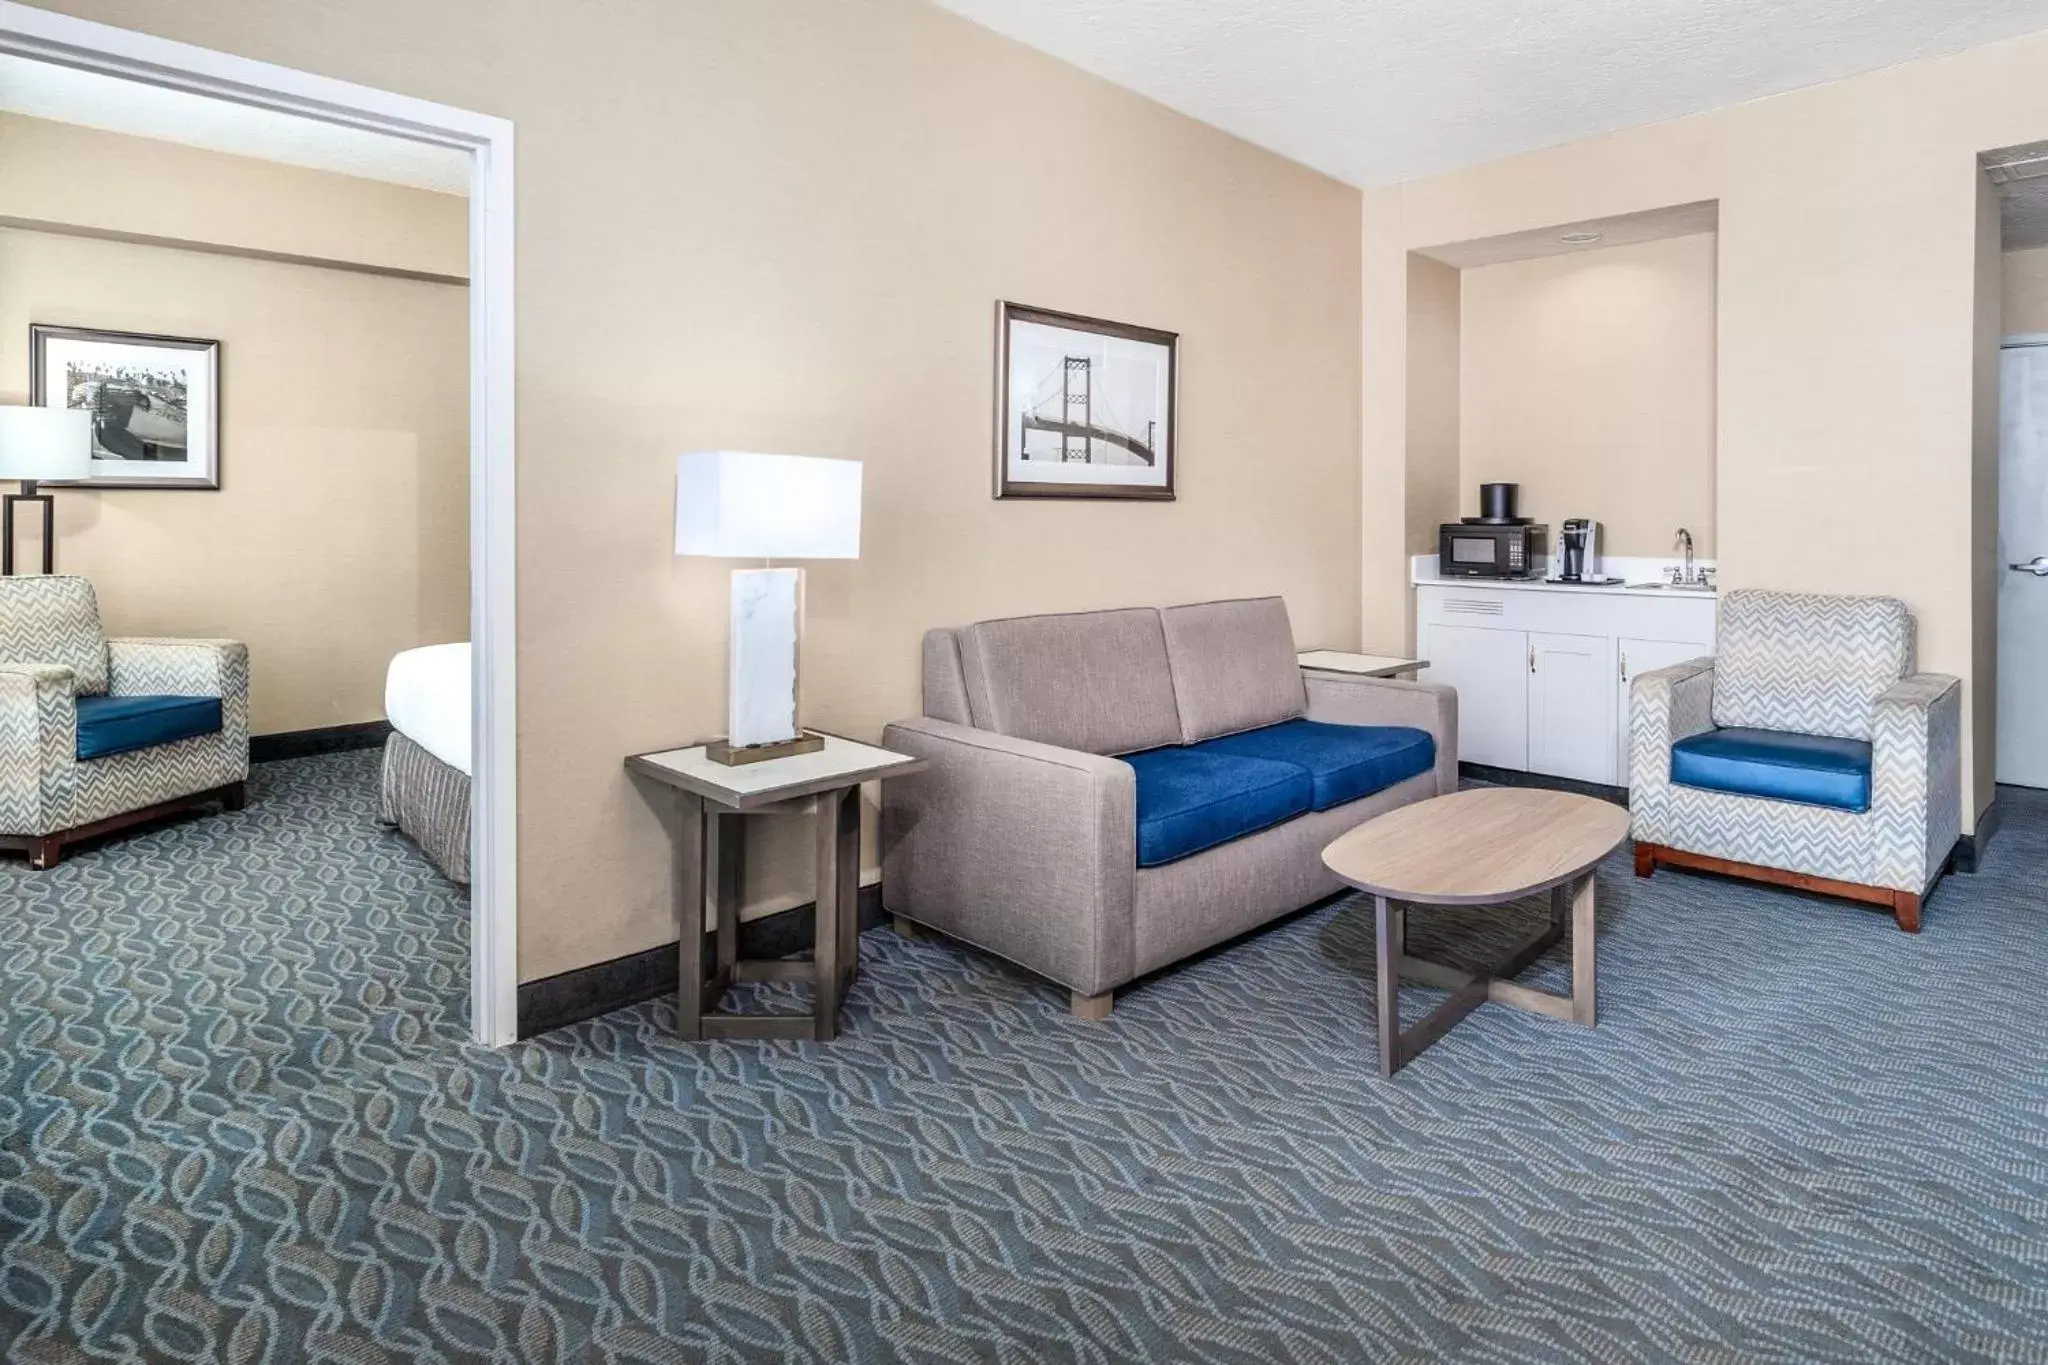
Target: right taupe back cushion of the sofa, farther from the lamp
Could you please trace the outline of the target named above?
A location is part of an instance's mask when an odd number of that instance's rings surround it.
[[[1280,598],[1169,606],[1159,622],[1180,704],[1180,743],[1280,724],[1309,710],[1294,626]]]

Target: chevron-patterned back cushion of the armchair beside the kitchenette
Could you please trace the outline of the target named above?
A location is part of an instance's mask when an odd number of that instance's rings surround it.
[[[1720,598],[1714,724],[1870,739],[1872,702],[1911,671],[1913,614],[1898,598]]]

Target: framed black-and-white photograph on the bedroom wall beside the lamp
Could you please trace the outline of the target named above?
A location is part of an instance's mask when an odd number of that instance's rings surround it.
[[[78,487],[221,487],[221,344],[184,336],[29,327],[29,401],[92,413]]]

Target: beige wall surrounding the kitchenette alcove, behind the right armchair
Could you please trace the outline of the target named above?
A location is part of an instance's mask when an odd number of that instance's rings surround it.
[[[1718,201],[1722,583],[1896,593],[1921,665],[1978,675],[1976,153],[2048,137],[2048,35],[1366,194],[1364,628],[1407,589],[1407,252]],[[1964,827],[1991,800],[1966,702]]]

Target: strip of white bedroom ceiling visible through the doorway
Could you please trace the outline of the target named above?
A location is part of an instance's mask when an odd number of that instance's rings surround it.
[[[442,194],[469,192],[467,151],[27,57],[0,55],[0,111]]]

